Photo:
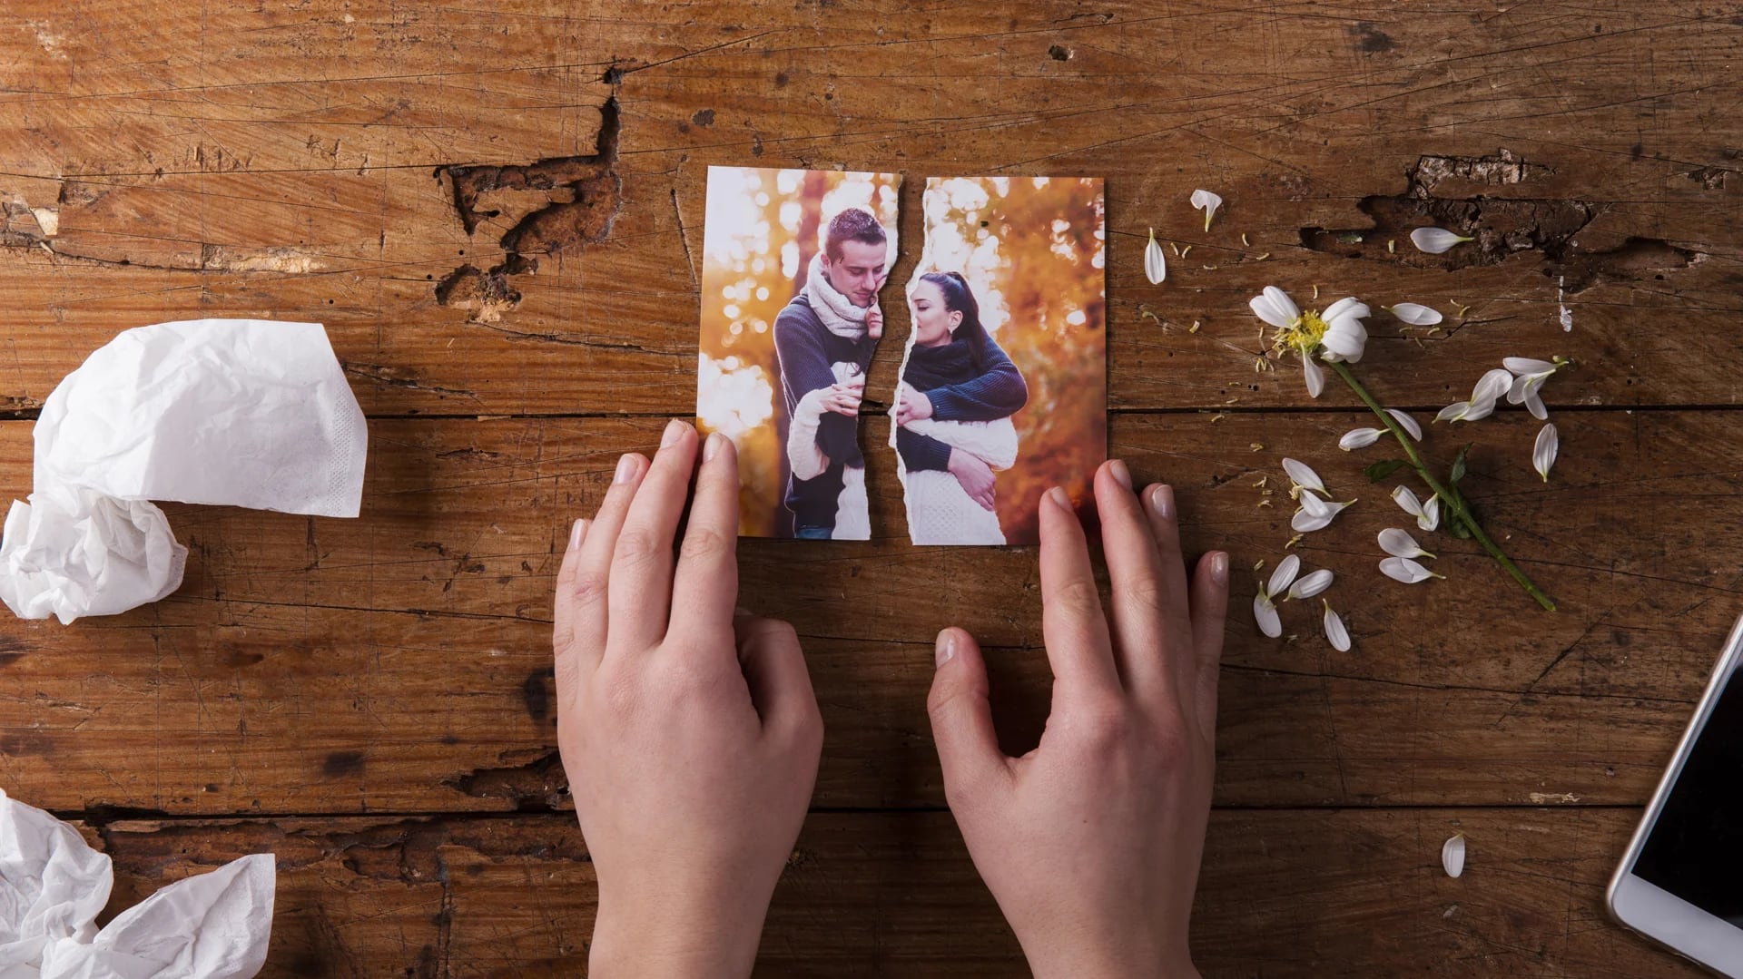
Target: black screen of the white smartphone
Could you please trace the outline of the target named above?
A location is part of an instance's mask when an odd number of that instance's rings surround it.
[[[1689,747],[1633,873],[1743,928],[1743,679],[1736,669]]]

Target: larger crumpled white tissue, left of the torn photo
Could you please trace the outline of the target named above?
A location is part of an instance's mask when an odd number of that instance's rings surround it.
[[[319,322],[129,329],[61,380],[35,439],[30,502],[0,538],[0,601],[21,618],[176,591],[187,547],[150,500],[328,517],[363,500],[368,429]]]

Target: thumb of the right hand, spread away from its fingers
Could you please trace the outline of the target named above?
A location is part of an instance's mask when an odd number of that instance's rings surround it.
[[[978,794],[981,786],[1009,775],[1007,758],[999,751],[999,732],[992,725],[987,660],[980,643],[962,629],[938,634],[938,672],[926,711],[933,718],[933,742],[945,770],[945,794],[952,808]]]

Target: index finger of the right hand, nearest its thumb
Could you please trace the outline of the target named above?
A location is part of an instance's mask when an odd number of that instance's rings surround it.
[[[1041,498],[1041,634],[1060,690],[1121,688],[1089,564],[1089,542],[1070,496],[1058,486]]]

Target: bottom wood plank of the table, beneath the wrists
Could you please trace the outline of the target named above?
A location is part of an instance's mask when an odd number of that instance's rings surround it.
[[[1206,976],[1698,976],[1607,923],[1638,812],[1217,812],[1194,909]],[[1464,833],[1459,880],[1441,840]],[[596,906],[573,819],[112,822],[119,909],[249,852],[279,859],[261,976],[579,972]],[[814,814],[765,976],[1011,976],[1014,939],[948,814]]]

